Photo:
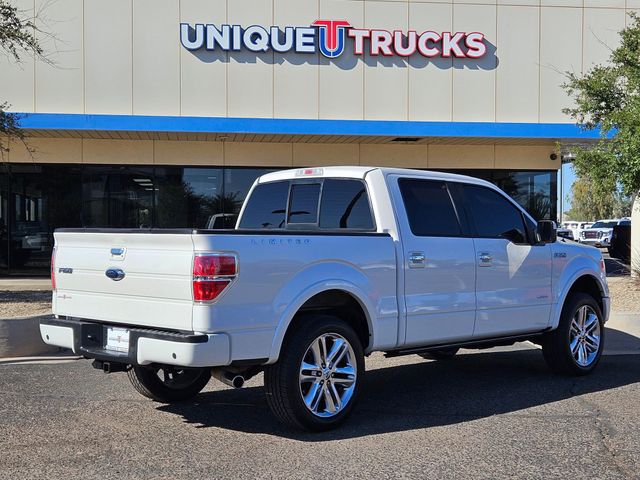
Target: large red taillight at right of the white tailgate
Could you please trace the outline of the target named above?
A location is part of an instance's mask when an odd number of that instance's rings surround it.
[[[235,255],[196,254],[193,257],[193,300],[215,300],[237,274],[238,261]]]

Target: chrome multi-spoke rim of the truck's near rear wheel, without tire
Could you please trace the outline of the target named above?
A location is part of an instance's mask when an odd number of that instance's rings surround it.
[[[300,364],[300,394],[307,409],[318,417],[333,417],[353,396],[358,377],[356,356],[337,333],[316,338]]]

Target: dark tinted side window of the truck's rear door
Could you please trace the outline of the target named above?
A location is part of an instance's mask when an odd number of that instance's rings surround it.
[[[462,228],[445,182],[401,178],[400,193],[411,232],[419,237],[459,237]]]

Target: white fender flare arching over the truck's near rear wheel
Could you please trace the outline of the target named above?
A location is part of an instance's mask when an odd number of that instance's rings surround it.
[[[291,325],[293,318],[296,316],[300,308],[309,299],[313,298],[319,293],[329,290],[340,290],[351,295],[353,299],[357,301],[362,307],[365,318],[367,319],[367,326],[369,328],[369,345],[364,346],[364,351],[365,353],[369,352],[371,346],[374,344],[375,332],[372,321],[372,313],[375,312],[374,306],[371,304],[364,291],[357,285],[340,279],[326,279],[317,282],[300,292],[282,313],[273,336],[273,342],[271,344],[271,355],[267,364],[272,364],[278,361],[284,337],[289,330],[289,326]]]

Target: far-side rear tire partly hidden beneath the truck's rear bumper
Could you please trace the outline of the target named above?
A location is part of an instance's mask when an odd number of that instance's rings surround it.
[[[211,379],[211,370],[136,366],[127,375],[141,395],[156,402],[172,403],[189,400],[200,393]]]

